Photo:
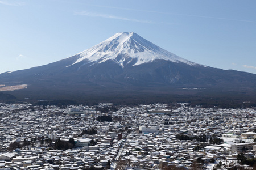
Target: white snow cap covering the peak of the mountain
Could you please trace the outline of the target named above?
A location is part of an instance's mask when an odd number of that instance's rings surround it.
[[[88,61],[93,64],[111,59],[122,67],[129,64],[131,61],[133,61],[133,66],[135,66],[154,61],[155,59],[196,65],[196,63],[176,56],[175,54],[152,44],[150,41],[143,39],[134,32],[116,33],[114,36],[106,39],[100,44],[77,54],[77,56],[79,56],[79,58],[73,65],[84,61],[85,59],[88,59]]]

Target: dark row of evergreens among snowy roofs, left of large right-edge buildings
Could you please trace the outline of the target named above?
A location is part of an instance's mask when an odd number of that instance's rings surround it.
[[[179,140],[184,140],[184,141],[196,140],[197,142],[208,142],[208,137],[205,134],[200,135],[200,136],[192,136],[192,137],[189,137],[188,135],[184,135],[184,134],[177,134],[176,138]],[[224,143],[224,141],[221,138],[210,137],[209,143],[220,144],[220,143]]]

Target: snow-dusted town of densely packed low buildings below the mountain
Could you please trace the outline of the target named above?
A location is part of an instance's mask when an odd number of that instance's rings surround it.
[[[255,108],[0,103],[1,169],[253,169]]]

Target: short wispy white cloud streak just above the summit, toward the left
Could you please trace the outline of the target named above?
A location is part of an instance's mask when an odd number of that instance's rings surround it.
[[[75,15],[85,15],[85,16],[90,16],[90,17],[100,17],[100,18],[108,18],[108,19],[127,20],[130,22],[155,24],[154,22],[151,22],[148,20],[138,20],[138,19],[132,19],[132,18],[125,18],[125,17],[121,17],[121,16],[109,15],[109,14],[93,13],[93,12],[88,12],[88,11],[75,12]]]

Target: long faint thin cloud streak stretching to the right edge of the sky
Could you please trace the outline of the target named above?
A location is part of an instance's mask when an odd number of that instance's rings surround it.
[[[149,13],[157,13],[157,14],[192,16],[192,17],[197,17],[197,18],[233,20],[233,21],[238,21],[238,22],[256,23],[256,21],[253,21],[253,20],[241,20],[241,19],[231,19],[231,18],[218,18],[218,17],[213,17],[213,16],[189,15],[189,14],[179,14],[179,13],[172,13],[172,12],[159,12],[159,11],[148,11],[148,10],[135,10],[135,9],[131,9],[131,8],[121,8],[121,7],[113,7],[113,6],[101,6],[101,5],[90,5],[90,6],[104,7],[104,8],[113,8],[113,9],[127,10],[127,11],[140,11],[140,12],[149,12]]]

